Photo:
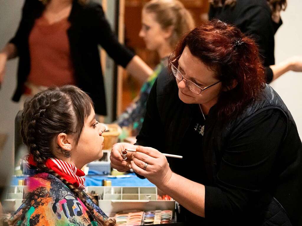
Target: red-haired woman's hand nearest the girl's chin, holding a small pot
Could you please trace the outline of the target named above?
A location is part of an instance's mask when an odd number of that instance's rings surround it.
[[[129,143],[117,143],[112,146],[110,160],[111,167],[117,169],[119,172],[126,172],[131,169],[131,160],[132,160],[132,151],[127,152],[127,160],[123,160],[121,155],[122,150],[125,149],[134,149],[136,150],[137,146]]]

